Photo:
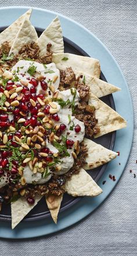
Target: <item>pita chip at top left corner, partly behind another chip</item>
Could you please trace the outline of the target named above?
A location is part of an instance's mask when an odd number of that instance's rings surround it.
[[[21,24],[23,23],[24,19],[30,19],[32,9],[27,10],[19,19],[15,20],[7,29],[3,30],[0,34],[0,45],[8,41],[9,45],[12,46],[15,37],[17,35],[17,31],[19,31]]]

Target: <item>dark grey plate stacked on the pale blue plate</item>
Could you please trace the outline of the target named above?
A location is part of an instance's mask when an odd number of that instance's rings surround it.
[[[6,27],[0,27],[0,32],[6,29]],[[43,29],[36,28],[38,36],[41,35]],[[70,41],[66,37],[64,37],[64,51],[70,52],[71,54],[89,56],[83,51],[78,45],[74,44],[74,42]],[[103,73],[100,74],[100,79],[106,81]],[[107,105],[111,106],[115,110],[114,100],[112,95],[107,95],[102,97],[102,101],[104,101]],[[109,148],[113,150],[114,142],[116,138],[116,132],[106,134],[102,137],[96,138],[94,141],[98,144],[103,145],[103,147]],[[100,177],[103,175],[104,170],[106,169],[106,165],[100,166],[89,172],[89,174],[93,177],[93,179],[98,182]],[[60,208],[60,211],[64,211],[67,208],[71,207],[71,205],[76,204],[77,201],[81,200],[81,197],[71,197],[71,195],[64,194],[63,202]],[[38,205],[34,207],[34,209],[26,216],[24,221],[36,221],[38,219],[47,218],[50,216],[49,210],[45,204],[45,198],[42,198],[41,201],[38,202]],[[11,212],[10,205],[3,205],[2,211],[0,213],[0,221],[11,221]]]

